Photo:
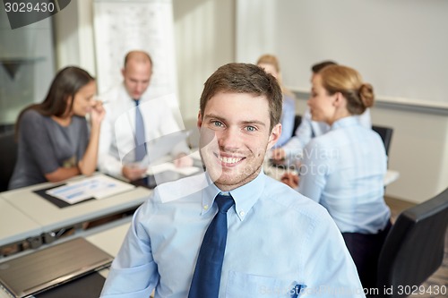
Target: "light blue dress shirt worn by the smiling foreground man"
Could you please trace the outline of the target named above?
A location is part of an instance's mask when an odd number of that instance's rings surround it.
[[[101,297],[185,298],[219,192],[207,173],[160,184],[135,212]],[[322,206],[263,172],[230,194],[220,297],[365,296]]]

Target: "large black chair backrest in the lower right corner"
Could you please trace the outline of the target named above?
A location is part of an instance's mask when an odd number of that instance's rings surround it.
[[[421,285],[440,267],[447,225],[448,188],[399,215],[378,260],[381,297],[406,297],[406,286]],[[382,293],[383,289],[393,291]]]

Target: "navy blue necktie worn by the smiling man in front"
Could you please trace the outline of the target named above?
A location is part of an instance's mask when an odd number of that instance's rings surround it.
[[[218,213],[202,239],[188,298],[214,298],[220,293],[220,277],[227,241],[227,211],[235,203],[229,195],[216,196]]]

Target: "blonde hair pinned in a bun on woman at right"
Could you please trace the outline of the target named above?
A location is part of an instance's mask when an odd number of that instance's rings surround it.
[[[343,65],[330,65],[319,72],[323,88],[329,95],[340,92],[347,99],[351,115],[361,115],[375,101],[374,88],[362,80],[359,72]]]

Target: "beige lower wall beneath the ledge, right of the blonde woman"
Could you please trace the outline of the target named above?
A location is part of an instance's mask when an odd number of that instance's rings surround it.
[[[448,187],[448,117],[378,104],[373,123],[393,127],[389,167],[400,179],[386,193],[405,200],[430,199]]]

